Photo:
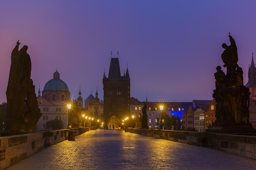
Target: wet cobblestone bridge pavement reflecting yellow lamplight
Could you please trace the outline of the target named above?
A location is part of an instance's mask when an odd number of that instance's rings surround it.
[[[256,170],[256,160],[145,137],[91,130],[38,152],[6,170]]]

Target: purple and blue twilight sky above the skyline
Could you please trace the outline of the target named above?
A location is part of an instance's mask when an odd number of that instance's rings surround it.
[[[104,69],[117,57],[140,101],[213,99],[216,66],[228,33],[248,81],[256,51],[255,0],[8,0],[0,2],[0,102],[6,102],[11,51],[20,40],[31,57],[31,79],[43,91],[58,69],[72,99],[103,99]],[[226,73],[226,68],[222,67]]]

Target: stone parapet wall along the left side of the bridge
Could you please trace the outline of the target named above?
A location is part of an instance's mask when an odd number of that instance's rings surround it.
[[[74,128],[76,135],[81,135],[97,127]],[[18,161],[25,159],[45,148],[68,139],[70,129],[52,130],[37,133],[9,135],[1,133],[0,137],[0,170],[7,168]]]

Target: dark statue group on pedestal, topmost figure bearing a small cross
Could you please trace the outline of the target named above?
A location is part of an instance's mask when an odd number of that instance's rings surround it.
[[[244,133],[255,132],[249,123],[249,88],[243,85],[243,69],[238,66],[237,47],[229,33],[231,45],[222,44],[225,49],[221,55],[227,74],[216,67],[214,73],[216,90],[213,98],[216,102],[216,121],[207,132]]]

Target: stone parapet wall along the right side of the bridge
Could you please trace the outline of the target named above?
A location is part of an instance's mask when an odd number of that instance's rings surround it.
[[[256,159],[256,136],[135,128],[128,128],[126,131]]]

